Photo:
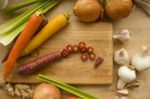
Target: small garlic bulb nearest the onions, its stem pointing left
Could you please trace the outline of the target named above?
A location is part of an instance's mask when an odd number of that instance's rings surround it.
[[[125,43],[131,40],[131,34],[129,30],[123,29],[118,35],[114,35],[113,39],[117,39]]]

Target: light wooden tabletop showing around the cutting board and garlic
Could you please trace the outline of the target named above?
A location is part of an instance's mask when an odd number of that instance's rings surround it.
[[[2,20],[1,16],[0,20]],[[114,42],[114,51],[118,48],[124,47],[129,51],[130,56],[132,56],[140,49],[142,45],[147,45],[150,47],[150,17],[138,7],[135,8],[129,17],[113,22],[113,28],[114,34],[118,33],[124,28],[129,29],[132,33],[131,42],[124,45]],[[1,47],[2,45],[0,45],[0,51]],[[0,55],[3,55],[3,53],[4,52],[1,51]],[[114,64],[114,79],[112,85],[78,85],[76,87],[96,95],[100,99],[115,99],[116,81],[118,79],[116,75],[117,68],[118,66]],[[150,70],[138,73],[137,80],[140,82],[140,86],[138,88],[129,90],[129,99],[150,99]],[[0,89],[0,98],[19,99],[8,96],[3,89]]]

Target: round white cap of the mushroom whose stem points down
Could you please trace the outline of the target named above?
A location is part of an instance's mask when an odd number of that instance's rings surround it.
[[[136,72],[127,66],[121,66],[118,69],[118,76],[122,81],[129,83],[136,79]]]

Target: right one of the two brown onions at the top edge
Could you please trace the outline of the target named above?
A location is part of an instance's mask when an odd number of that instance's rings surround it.
[[[111,20],[118,20],[130,14],[132,5],[132,0],[105,0],[105,12]]]

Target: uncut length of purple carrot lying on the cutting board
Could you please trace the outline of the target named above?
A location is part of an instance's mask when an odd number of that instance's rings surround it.
[[[48,55],[39,57],[33,61],[30,61],[26,64],[20,65],[19,66],[19,74],[25,75],[25,74],[30,74],[33,73],[43,67],[45,67],[47,64],[52,63],[58,59],[63,58],[61,56],[61,52],[60,51],[56,51],[53,53],[50,53]]]

